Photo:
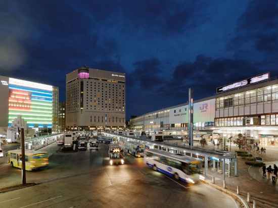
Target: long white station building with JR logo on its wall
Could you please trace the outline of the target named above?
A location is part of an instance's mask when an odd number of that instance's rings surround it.
[[[278,79],[264,73],[217,87],[213,96],[194,101],[194,137],[247,139],[278,146]],[[188,103],[130,119],[139,131],[188,130]]]

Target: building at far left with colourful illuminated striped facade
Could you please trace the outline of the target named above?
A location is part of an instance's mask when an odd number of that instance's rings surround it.
[[[59,88],[51,85],[0,76],[0,131],[7,132],[18,115],[28,128],[58,127]]]

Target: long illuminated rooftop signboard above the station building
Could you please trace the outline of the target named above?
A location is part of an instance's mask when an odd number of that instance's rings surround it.
[[[265,74],[261,74],[261,75],[255,76],[255,77],[251,77],[251,78],[242,80],[240,82],[235,82],[233,84],[228,84],[228,85],[225,85],[225,86],[217,87],[216,88],[216,93],[225,92],[225,91],[228,91],[228,90],[231,90],[231,89],[239,88],[239,87],[246,86],[246,85],[249,85],[249,84],[258,83],[258,82],[261,82],[261,81],[264,81],[264,80],[268,80],[269,77],[270,77],[269,73],[265,73]]]

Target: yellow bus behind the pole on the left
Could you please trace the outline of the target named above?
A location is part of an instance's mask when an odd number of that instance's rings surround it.
[[[8,151],[8,164],[21,169],[21,149]],[[48,152],[25,149],[25,170],[33,171],[49,165]]]

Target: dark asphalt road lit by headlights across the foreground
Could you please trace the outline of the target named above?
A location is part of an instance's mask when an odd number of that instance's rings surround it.
[[[109,166],[108,145],[99,150],[53,153],[50,167],[27,172],[38,185],[0,194],[0,207],[237,207],[228,195],[203,183],[189,186],[126,156],[126,164]],[[0,188],[20,183],[20,170],[0,166]]]

